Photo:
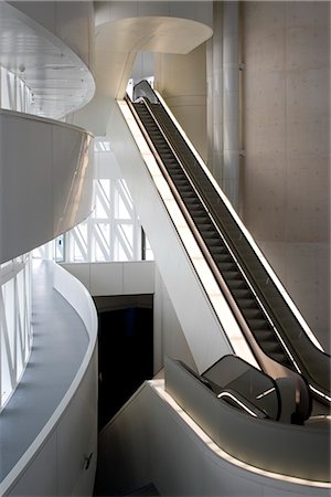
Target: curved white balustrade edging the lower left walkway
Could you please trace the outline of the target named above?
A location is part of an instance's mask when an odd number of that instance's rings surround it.
[[[88,342],[64,396],[0,483],[0,495],[36,495],[45,488],[51,493],[43,495],[93,493],[97,459],[97,314],[90,295],[75,277],[56,264],[53,275],[54,288],[74,306],[85,325]]]

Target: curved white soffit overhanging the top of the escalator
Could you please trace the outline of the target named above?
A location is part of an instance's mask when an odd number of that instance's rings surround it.
[[[98,25],[95,42],[98,94],[122,97],[138,52],[186,54],[212,34],[206,24],[171,17],[125,18]]]

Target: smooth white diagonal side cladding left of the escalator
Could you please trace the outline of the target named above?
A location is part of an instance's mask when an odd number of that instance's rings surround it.
[[[232,347],[118,108],[111,117],[108,136],[113,150],[191,353],[197,369],[203,371],[223,355],[231,353]]]

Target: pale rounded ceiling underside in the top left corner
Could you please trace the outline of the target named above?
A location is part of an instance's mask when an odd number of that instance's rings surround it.
[[[19,75],[34,94],[33,114],[60,119],[94,95],[94,78],[56,36],[0,1],[0,65]]]

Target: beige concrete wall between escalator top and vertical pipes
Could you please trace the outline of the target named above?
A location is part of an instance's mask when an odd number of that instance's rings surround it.
[[[186,55],[156,54],[154,87],[204,160],[206,144],[206,45]]]

